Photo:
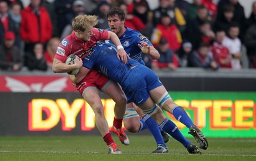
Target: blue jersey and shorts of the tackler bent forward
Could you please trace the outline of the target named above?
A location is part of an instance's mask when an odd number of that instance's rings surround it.
[[[138,106],[147,101],[150,90],[163,85],[151,69],[137,60],[128,59],[127,64],[118,60],[116,47],[110,43],[97,43],[93,51],[84,57],[83,66],[88,69],[93,67],[118,82],[129,99]]]

